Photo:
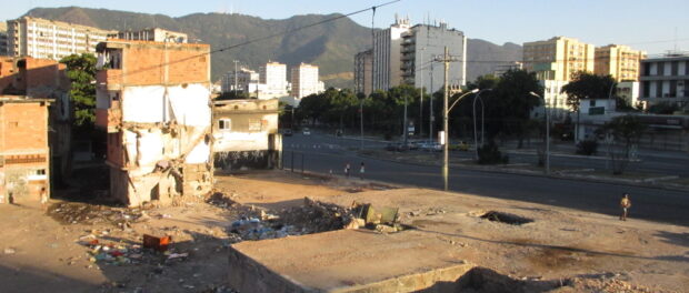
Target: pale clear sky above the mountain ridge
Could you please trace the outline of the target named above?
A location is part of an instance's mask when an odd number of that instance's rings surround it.
[[[241,13],[263,19],[297,14],[350,13],[391,0],[0,0],[0,20],[20,17],[34,7],[104,8],[182,17],[191,13]],[[375,27],[395,22],[396,13],[411,23],[446,21],[467,38],[497,44],[577,38],[596,46],[628,44],[649,54],[689,51],[689,0],[401,0],[378,8]],[[352,19],[371,26],[371,11]]]

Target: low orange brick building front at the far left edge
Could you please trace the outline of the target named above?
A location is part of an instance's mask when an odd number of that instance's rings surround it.
[[[50,196],[49,99],[0,95],[0,204]]]

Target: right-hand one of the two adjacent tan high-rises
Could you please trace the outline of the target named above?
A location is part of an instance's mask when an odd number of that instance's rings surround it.
[[[612,75],[617,81],[638,81],[639,64],[646,52],[632,50],[627,46],[608,44],[596,48],[593,72],[599,75]]]

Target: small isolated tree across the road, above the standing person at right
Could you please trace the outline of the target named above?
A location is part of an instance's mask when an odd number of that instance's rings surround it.
[[[621,174],[625,171],[631,159],[631,150],[639,143],[645,131],[646,124],[636,115],[616,117],[597,130],[597,134],[612,139],[608,145],[608,153],[612,161],[613,174]],[[611,150],[618,143],[622,146],[621,155]]]

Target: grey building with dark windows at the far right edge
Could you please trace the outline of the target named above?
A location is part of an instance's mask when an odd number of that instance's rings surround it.
[[[689,53],[669,53],[641,60],[639,100],[660,102],[689,110]]]

